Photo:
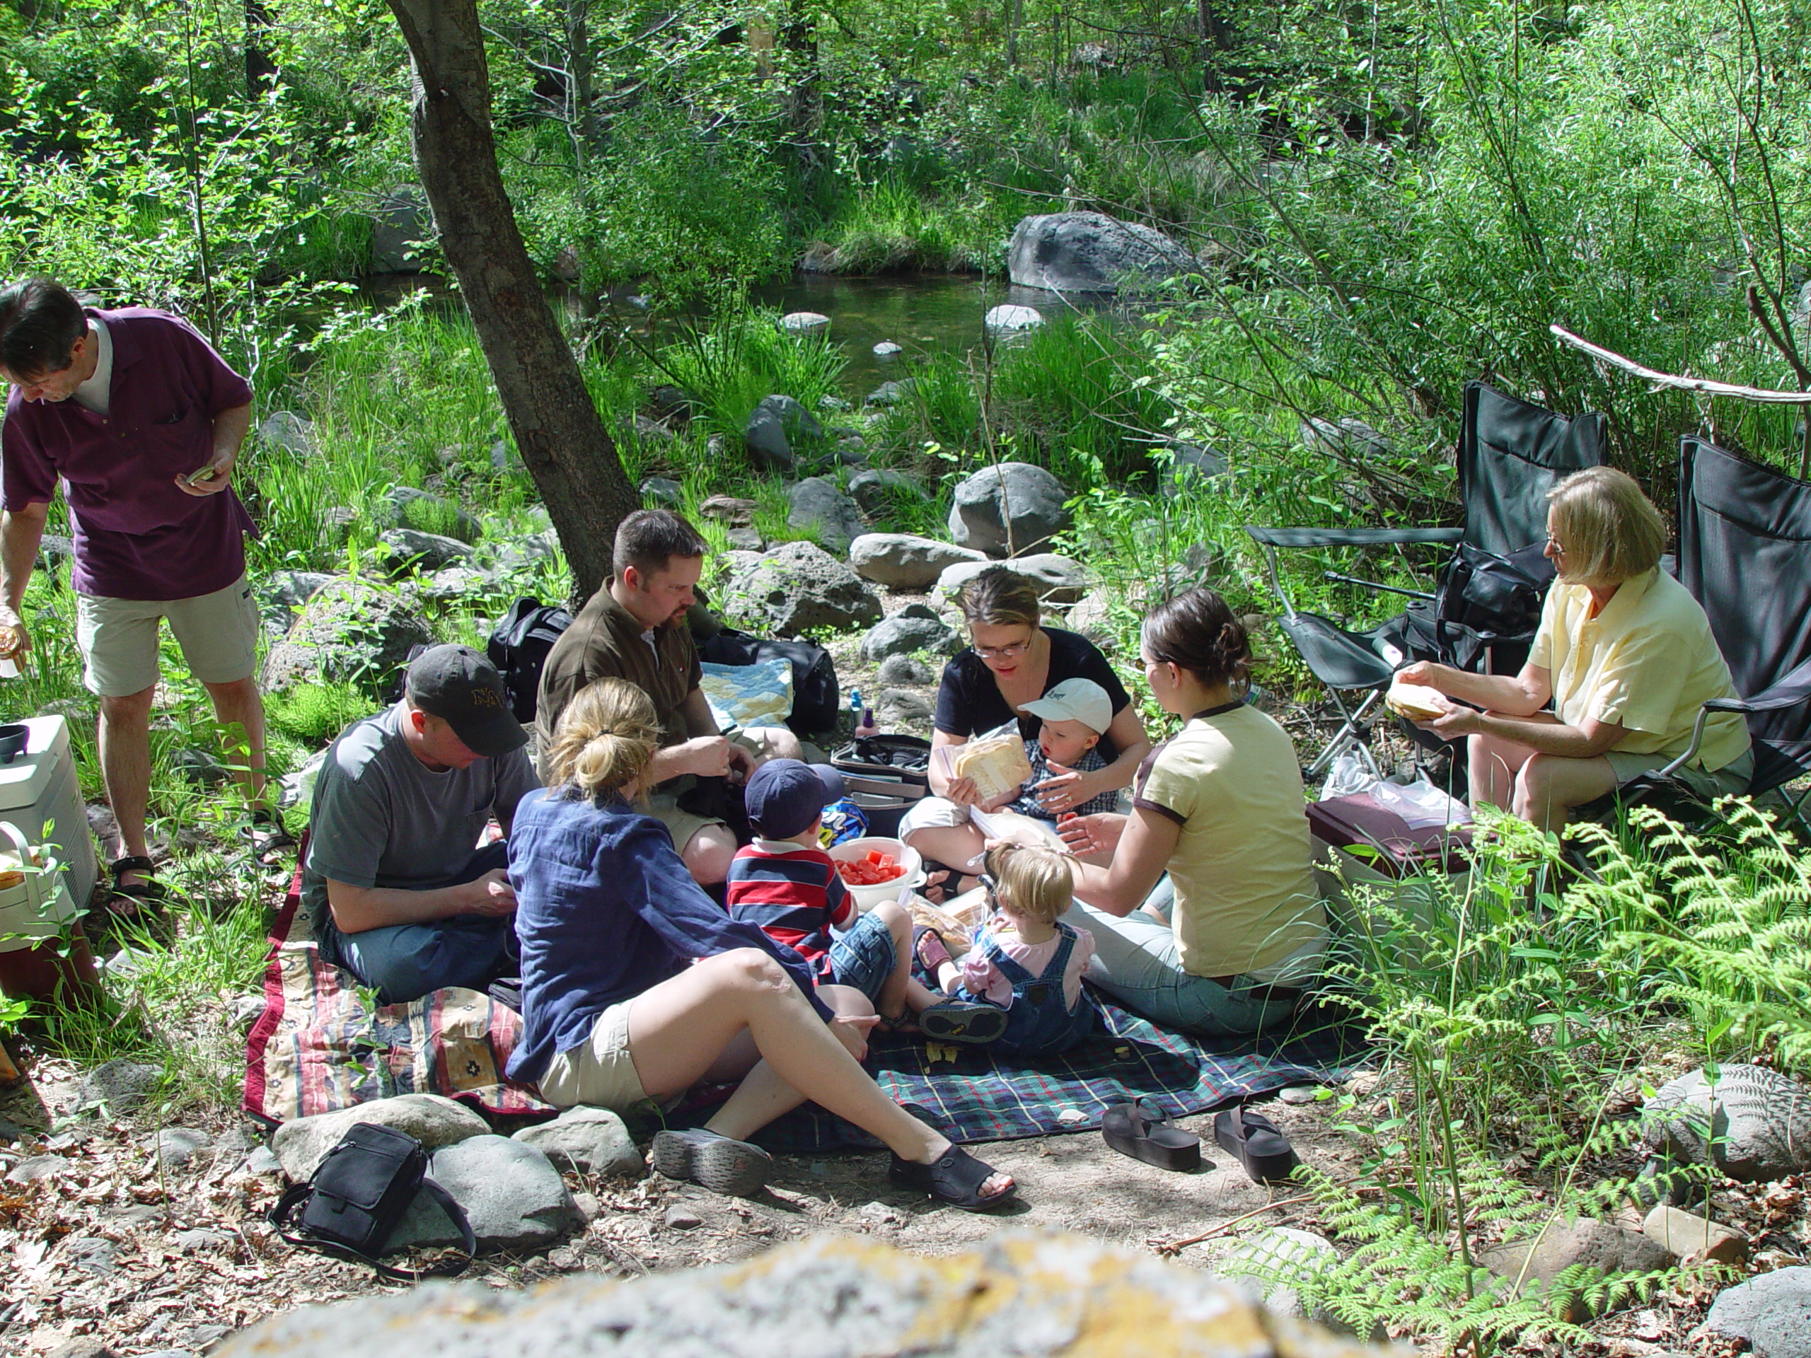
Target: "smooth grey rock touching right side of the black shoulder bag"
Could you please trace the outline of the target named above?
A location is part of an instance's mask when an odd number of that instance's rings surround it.
[[[581,1226],[552,1161],[509,1137],[478,1135],[427,1157],[427,1177],[465,1210],[480,1249],[545,1249]],[[391,1249],[458,1244],[458,1228],[426,1191],[404,1213]]]

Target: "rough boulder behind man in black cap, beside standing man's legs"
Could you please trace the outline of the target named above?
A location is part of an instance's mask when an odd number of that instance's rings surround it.
[[[264,655],[261,688],[362,683],[380,688],[435,634],[406,590],[344,576],[308,599],[290,634]]]

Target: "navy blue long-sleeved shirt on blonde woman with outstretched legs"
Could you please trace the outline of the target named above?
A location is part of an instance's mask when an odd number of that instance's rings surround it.
[[[522,1045],[511,1079],[590,1038],[598,1014],[677,976],[694,958],[759,947],[791,972],[826,1019],[804,960],[706,896],[666,827],[621,800],[534,791],[509,833],[509,884],[522,940]]]

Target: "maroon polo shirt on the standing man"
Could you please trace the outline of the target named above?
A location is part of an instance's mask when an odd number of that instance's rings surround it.
[[[185,320],[143,306],[89,311],[112,339],[107,415],[62,402],[5,404],[0,503],[49,503],[63,483],[74,587],[109,599],[194,599],[244,574],[255,532],[232,489],[192,496],[176,478],[214,456],[214,416],[252,387]]]

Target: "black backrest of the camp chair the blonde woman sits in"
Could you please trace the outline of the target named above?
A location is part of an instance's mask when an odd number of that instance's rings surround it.
[[[1679,440],[1679,583],[1704,605],[1735,692],[1811,657],[1811,482],[1702,438]],[[1811,771],[1811,704],[1748,717],[1753,791]]]

